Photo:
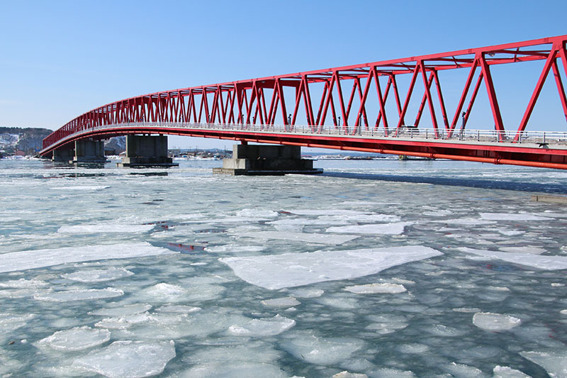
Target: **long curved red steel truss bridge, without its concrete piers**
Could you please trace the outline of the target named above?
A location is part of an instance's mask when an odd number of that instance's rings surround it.
[[[547,80],[567,121],[566,42],[561,35],[145,94],[74,118],[43,140],[40,155],[84,138],[169,134],[567,169],[567,133],[527,130]],[[514,109],[523,113],[520,123],[506,129],[498,99],[514,89],[497,96],[491,71],[534,61],[541,62],[524,64],[539,79]],[[442,78],[457,87],[454,109],[447,109]],[[490,127],[471,130],[468,117],[483,87],[488,104],[477,108],[491,113]],[[420,127],[424,113],[428,128]]]

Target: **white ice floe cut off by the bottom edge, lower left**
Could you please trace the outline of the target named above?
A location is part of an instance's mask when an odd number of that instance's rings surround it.
[[[115,341],[74,360],[74,365],[111,378],[150,377],[175,357],[173,341]]]

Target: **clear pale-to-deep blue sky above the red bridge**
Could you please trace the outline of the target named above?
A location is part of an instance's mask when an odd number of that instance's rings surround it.
[[[566,0],[0,0],[0,126],[55,130],[155,91],[563,35],[566,14]],[[522,79],[528,88],[533,73]],[[567,131],[549,83],[558,112],[550,119]],[[546,128],[549,111],[539,113],[532,130]],[[227,144],[170,140],[181,148]]]

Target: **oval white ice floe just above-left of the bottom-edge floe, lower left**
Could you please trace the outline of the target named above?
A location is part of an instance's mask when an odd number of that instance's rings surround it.
[[[105,329],[93,329],[87,326],[59,330],[47,338],[38,341],[38,345],[55,350],[84,350],[106,343],[111,333]]]

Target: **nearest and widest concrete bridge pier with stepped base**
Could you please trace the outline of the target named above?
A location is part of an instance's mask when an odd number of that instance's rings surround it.
[[[301,159],[301,147],[295,145],[234,145],[232,159],[213,169],[213,173],[249,176],[322,172],[313,168],[313,160]]]

